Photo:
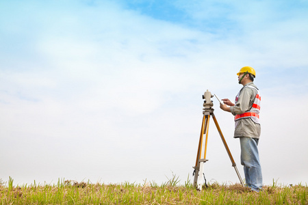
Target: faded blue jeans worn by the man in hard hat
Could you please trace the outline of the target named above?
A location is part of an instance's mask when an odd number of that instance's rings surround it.
[[[262,188],[262,173],[257,148],[258,142],[259,139],[240,137],[241,164],[244,165],[246,186],[257,192]]]

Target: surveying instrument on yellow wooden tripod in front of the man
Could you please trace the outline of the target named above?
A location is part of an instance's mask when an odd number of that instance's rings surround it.
[[[218,133],[220,134],[220,138],[222,139],[222,143],[224,143],[224,148],[226,148],[227,153],[229,154],[229,158],[231,160],[232,163],[232,167],[234,167],[236,174],[238,174],[238,178],[240,179],[240,182],[242,184],[242,186],[244,187],[244,182],[240,176],[240,173],[238,172],[238,168],[236,167],[235,161],[233,159],[233,156],[227,146],[227,142],[224,139],[224,135],[222,135],[222,131],[220,130],[220,127],[218,125],[218,122],[215,118],[214,115],[214,109],[213,107],[213,101],[211,101],[211,98],[213,96],[211,95],[211,92],[209,92],[209,90],[207,90],[207,92],[204,93],[203,95],[203,99],[205,99],[204,103],[203,103],[203,120],[202,120],[202,126],[201,126],[201,134],[200,134],[200,139],[199,139],[199,145],[198,145],[198,152],[197,152],[197,156],[196,156],[196,165],[193,167],[194,168],[194,187],[196,187],[196,189],[198,189],[199,191],[202,190],[202,182],[203,182],[203,169],[204,169],[204,163],[206,161],[208,161],[206,159],[206,154],[207,154],[207,137],[209,134],[209,117],[211,116],[216,124],[216,128],[218,130]],[[216,96],[217,98],[217,96]],[[219,100],[219,99],[218,99]],[[219,100],[220,101],[220,100]],[[220,103],[222,103],[220,101]],[[203,135],[206,135],[205,137],[205,142],[203,139]],[[202,158],[202,155],[203,158]],[[205,177],[204,177],[205,178]],[[205,186],[207,186],[206,184],[206,180],[205,180]]]

